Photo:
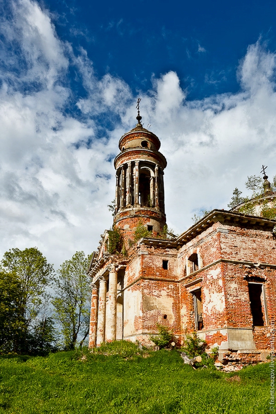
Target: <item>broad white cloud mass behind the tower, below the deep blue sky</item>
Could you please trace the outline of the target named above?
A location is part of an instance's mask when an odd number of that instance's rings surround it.
[[[135,124],[136,96],[122,79],[97,78],[86,51],[62,42],[36,2],[11,0],[0,31],[0,255],[38,246],[58,266],[96,249],[111,226],[113,159]],[[200,209],[227,208],[262,164],[275,174],[274,74],[275,54],[257,42],[240,62],[239,93],[189,101],[173,71],[140,93],[143,122],[168,160],[166,212],[176,231]]]

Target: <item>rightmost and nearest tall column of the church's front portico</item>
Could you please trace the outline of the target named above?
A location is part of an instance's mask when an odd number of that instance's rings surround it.
[[[117,271],[115,265],[111,264],[109,271],[109,288],[108,288],[108,312],[106,313],[106,341],[116,340],[117,325]]]

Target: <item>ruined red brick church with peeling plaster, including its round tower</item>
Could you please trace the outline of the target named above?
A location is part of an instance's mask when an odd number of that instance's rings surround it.
[[[115,339],[153,345],[149,337],[162,324],[179,344],[196,331],[209,349],[219,347],[221,361],[265,360],[276,319],[276,221],[213,210],[168,238],[167,162],[141,119],[138,112],[119,141],[113,230],[102,235],[89,269],[89,346]],[[268,187],[263,198],[273,199]]]

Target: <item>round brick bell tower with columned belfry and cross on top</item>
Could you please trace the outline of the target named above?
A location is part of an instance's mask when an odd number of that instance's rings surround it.
[[[166,158],[159,152],[159,138],[144,128],[138,99],[137,124],[122,135],[120,153],[114,160],[116,170],[114,226],[124,238],[133,239],[137,225],[143,224],[153,235],[166,224],[164,169]]]

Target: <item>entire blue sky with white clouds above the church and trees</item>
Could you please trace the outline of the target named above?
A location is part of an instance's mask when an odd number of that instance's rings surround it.
[[[0,2],[0,254],[56,266],[110,228],[120,136],[144,126],[168,161],[178,233],[268,166],[276,174],[276,3]]]

